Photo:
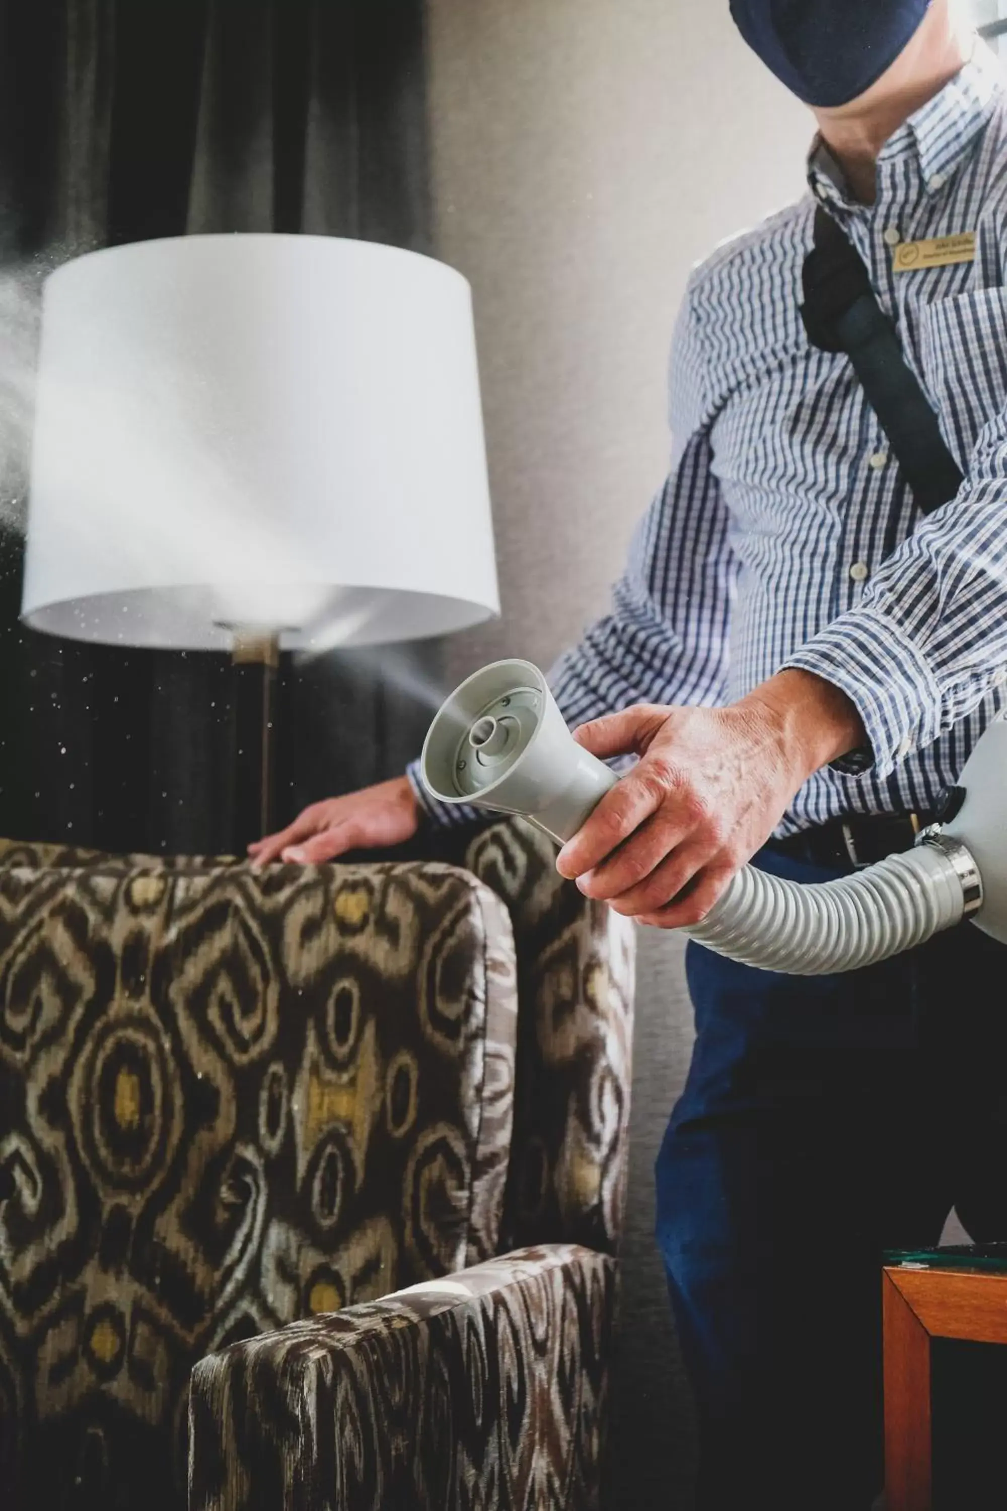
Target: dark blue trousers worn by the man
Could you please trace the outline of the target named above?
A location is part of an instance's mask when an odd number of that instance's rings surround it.
[[[776,875],[836,872],[785,860]],[[953,1206],[1007,1238],[1007,947],[969,923],[803,979],[690,944],[696,1046],[657,1160],[702,1511],[868,1511],[880,1266]]]

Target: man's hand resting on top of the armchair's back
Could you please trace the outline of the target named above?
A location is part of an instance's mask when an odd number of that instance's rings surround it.
[[[279,834],[249,845],[254,866],[273,860],[317,866],[352,849],[405,845],[420,827],[420,807],[408,777],[382,781],[344,798],[313,802]]]

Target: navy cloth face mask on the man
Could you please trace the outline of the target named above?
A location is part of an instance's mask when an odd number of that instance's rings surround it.
[[[930,0],[731,0],[741,36],[805,104],[848,104],[895,62]]]

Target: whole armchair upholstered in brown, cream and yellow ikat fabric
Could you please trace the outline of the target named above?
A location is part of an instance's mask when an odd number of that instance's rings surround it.
[[[631,935],[463,860],[0,843],[5,1506],[598,1503]]]

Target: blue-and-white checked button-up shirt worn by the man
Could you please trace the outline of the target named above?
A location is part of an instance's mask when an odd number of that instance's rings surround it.
[[[670,476],[611,612],[551,674],[571,724],[634,703],[729,703],[787,666],[841,688],[873,762],[817,772],[781,834],[932,808],[1007,703],[1007,92],[992,54],[977,44],[895,131],[874,204],[848,196],[821,144],[809,186],[693,272]],[[861,252],[965,473],[925,518],[848,360],[805,334],[817,202]],[[974,261],[894,270],[900,243],[965,231]]]

